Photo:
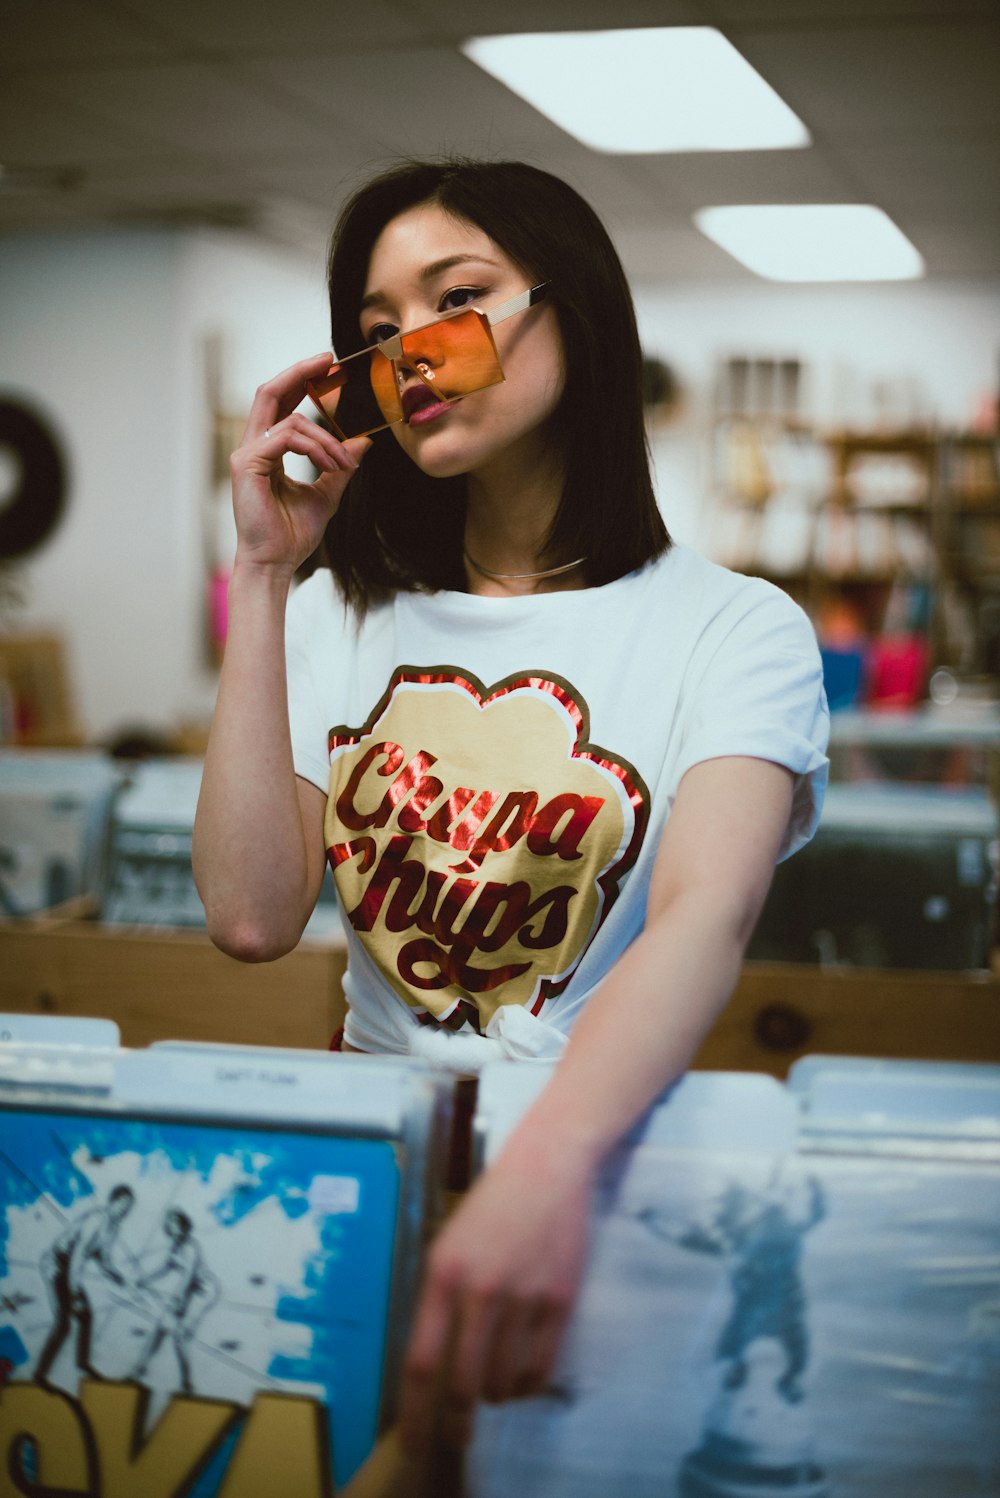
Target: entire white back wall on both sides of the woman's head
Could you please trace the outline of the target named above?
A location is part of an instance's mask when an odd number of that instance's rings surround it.
[[[656,439],[663,508],[684,539],[698,539],[719,358],[798,355],[820,424],[870,419],[873,385],[897,376],[954,424],[996,389],[1000,283],[644,285],[636,301],[647,351],[687,388]],[[326,345],[322,265],[214,232],[10,235],[0,316],[0,392],[55,424],[72,475],[66,520],[25,559],[25,605],[6,623],[64,634],[94,739],[205,718],[202,532],[217,493],[204,340],[223,336],[226,403],[246,412],[262,379]]]

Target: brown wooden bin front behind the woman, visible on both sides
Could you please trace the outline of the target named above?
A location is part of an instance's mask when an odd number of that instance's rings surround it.
[[[0,1010],[111,1019],[157,1040],[325,1050],[343,1023],[344,950],[240,963],[201,932],[96,921],[0,924]],[[747,962],[695,1067],[784,1079],[807,1055],[1000,1062],[1000,978]]]

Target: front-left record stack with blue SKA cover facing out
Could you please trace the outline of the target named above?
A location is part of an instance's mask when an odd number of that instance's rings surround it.
[[[0,1492],[349,1495],[394,1414],[451,1079],[22,1050],[0,1074]]]

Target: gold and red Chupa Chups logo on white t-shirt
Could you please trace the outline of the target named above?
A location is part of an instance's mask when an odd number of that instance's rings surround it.
[[[482,1028],[560,993],[638,855],[648,792],[587,742],[569,682],[400,667],[329,736],[329,863],[353,929],[421,1016]]]

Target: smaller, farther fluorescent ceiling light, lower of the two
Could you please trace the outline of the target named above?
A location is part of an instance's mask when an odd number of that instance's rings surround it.
[[[916,280],[924,261],[870,204],[756,204],[699,208],[695,223],[765,280]]]

